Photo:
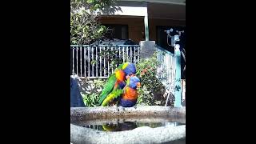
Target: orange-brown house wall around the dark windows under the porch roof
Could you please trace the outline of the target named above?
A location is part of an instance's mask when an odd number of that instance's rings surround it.
[[[122,24],[128,25],[129,38],[135,42],[145,41],[144,18],[143,17],[102,17],[99,18],[102,24]],[[157,40],[156,26],[186,26],[186,21],[177,21],[171,19],[149,18],[150,41]]]

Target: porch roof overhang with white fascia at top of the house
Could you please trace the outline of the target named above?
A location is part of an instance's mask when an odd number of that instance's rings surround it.
[[[186,21],[186,4],[182,2],[184,0],[119,0],[116,4],[120,10],[108,15]]]

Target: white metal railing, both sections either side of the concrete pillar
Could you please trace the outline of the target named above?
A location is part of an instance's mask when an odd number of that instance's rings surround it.
[[[156,46],[158,51],[158,78],[174,94],[174,54]],[[137,63],[140,59],[139,45],[71,45],[70,74],[80,78],[108,78],[122,62]]]

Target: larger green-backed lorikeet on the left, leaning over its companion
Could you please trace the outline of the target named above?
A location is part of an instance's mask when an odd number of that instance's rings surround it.
[[[108,106],[110,102],[117,99],[123,94],[123,88],[126,86],[126,76],[130,74],[136,74],[136,67],[134,63],[124,62],[118,66],[114,73],[108,78],[102,94],[100,94],[100,100],[98,106]]]

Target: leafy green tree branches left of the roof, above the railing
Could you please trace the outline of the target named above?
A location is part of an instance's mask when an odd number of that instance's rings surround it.
[[[109,9],[114,2],[115,0],[71,0],[70,43],[84,45],[102,38],[107,29],[98,22],[97,16],[102,10]]]

